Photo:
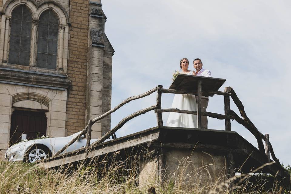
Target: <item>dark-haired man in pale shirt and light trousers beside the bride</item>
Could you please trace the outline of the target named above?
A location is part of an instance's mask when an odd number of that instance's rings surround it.
[[[193,64],[194,64],[196,75],[204,76],[204,77],[211,77],[211,72],[207,69],[202,68],[203,64],[201,62],[201,59],[194,59]],[[196,96],[196,101],[198,101],[197,96]],[[208,101],[209,101],[208,97],[206,96],[201,97],[201,111],[202,112],[206,111],[206,108],[208,106]],[[201,116],[202,129],[207,129],[207,123],[208,123],[207,116]]]

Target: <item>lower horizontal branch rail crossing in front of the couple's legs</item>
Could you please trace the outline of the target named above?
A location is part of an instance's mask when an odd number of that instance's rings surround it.
[[[191,114],[191,115],[197,115],[197,111],[190,111],[190,110],[180,110],[180,109],[157,109],[155,110],[156,113],[162,113],[162,112],[179,112],[184,114]],[[209,116],[216,119],[233,119],[231,115],[221,115],[213,112],[201,112],[201,115],[203,116]]]

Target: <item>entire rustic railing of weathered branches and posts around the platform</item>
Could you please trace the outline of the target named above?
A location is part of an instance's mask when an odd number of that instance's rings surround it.
[[[92,125],[99,121],[100,119],[110,115],[111,113],[115,112],[119,108],[121,108],[123,105],[127,104],[128,102],[136,99],[143,98],[145,96],[148,96],[154,92],[157,91],[157,98],[156,98],[156,105],[152,105],[148,108],[139,110],[125,118],[123,118],[113,129],[111,129],[109,132],[105,133],[100,139],[98,139],[96,142],[93,142],[90,144],[91,140],[91,132],[92,132]],[[103,142],[105,139],[109,138],[111,135],[113,135],[118,129],[120,129],[126,122],[129,120],[142,115],[146,112],[155,110],[156,116],[157,116],[157,123],[158,126],[163,126],[163,120],[162,120],[162,112],[179,112],[179,113],[185,113],[185,114],[192,114],[192,115],[197,115],[199,112],[197,111],[188,111],[188,110],[180,110],[180,109],[162,109],[161,103],[162,103],[162,93],[172,93],[172,94],[196,94],[197,91],[191,91],[191,90],[174,90],[174,89],[163,89],[162,85],[158,85],[155,88],[151,89],[148,92],[145,92],[140,95],[132,96],[124,101],[122,101],[119,105],[115,106],[113,109],[109,110],[108,112],[96,117],[95,119],[89,120],[88,125],[83,129],[79,135],[77,135],[75,138],[73,138],[67,145],[65,145],[62,149],[60,149],[58,152],[56,152],[52,157],[58,156],[61,154],[65,149],[67,149],[72,143],[74,143],[76,140],[80,139],[82,135],[85,135],[87,133],[87,143],[86,143],[86,151],[89,151],[92,146],[99,144]],[[201,115],[204,116],[209,116],[212,118],[216,119],[224,119],[225,120],[225,130],[231,131],[231,124],[230,120],[235,120],[239,124],[243,125],[246,129],[248,129],[256,138],[257,143],[258,143],[258,148],[260,152],[266,153],[268,156],[268,160],[270,160],[270,154],[273,158],[273,160],[281,166],[279,159],[276,158],[275,153],[273,151],[273,147],[271,143],[269,142],[269,135],[263,135],[259,130],[256,128],[256,126],[253,124],[253,122],[250,121],[250,119],[247,117],[246,112],[244,110],[243,103],[239,100],[239,98],[236,95],[236,92],[231,87],[226,87],[224,89],[224,92],[221,91],[207,91],[203,92],[202,95],[204,96],[209,96],[209,95],[223,95],[224,96],[224,112],[225,114],[217,114],[213,112],[201,112]],[[242,116],[239,117],[233,110],[230,109],[230,97],[232,98],[233,102],[236,104],[237,108],[239,109],[240,115]],[[266,148],[264,148],[264,144],[262,139],[265,141]]]

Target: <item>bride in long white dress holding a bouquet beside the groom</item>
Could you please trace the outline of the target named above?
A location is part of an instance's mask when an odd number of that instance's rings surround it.
[[[189,60],[183,58],[180,61],[179,73],[186,75],[196,75],[194,71],[188,70]],[[195,95],[192,94],[175,94],[172,103],[172,109],[197,111],[197,103]],[[167,125],[169,127],[187,127],[197,128],[197,116],[191,114],[181,114],[178,112],[170,112]]]

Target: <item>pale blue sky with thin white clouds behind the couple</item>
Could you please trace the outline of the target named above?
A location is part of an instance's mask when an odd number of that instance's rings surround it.
[[[291,95],[289,52],[290,1],[101,1],[107,17],[105,33],[115,55],[112,62],[112,108],[122,100],[157,85],[169,88],[180,59],[202,59],[212,77],[226,79],[219,91],[231,86],[249,119],[268,133],[276,157],[291,164],[289,125]],[[173,94],[162,94],[162,109],[170,108]],[[112,113],[111,128],[127,115],[156,104],[156,93],[129,102]],[[230,108],[237,112],[231,100]],[[209,112],[224,114],[223,96],[209,98]],[[164,124],[169,113],[163,113]],[[117,137],[157,125],[148,112],[127,122]],[[236,131],[257,147],[255,137],[236,121]],[[224,120],[208,119],[209,129],[225,129]]]

